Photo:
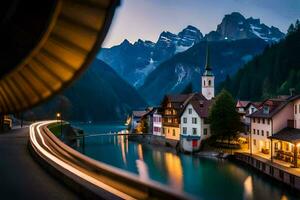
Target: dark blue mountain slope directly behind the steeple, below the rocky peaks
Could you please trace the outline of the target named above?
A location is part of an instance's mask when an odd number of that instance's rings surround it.
[[[240,66],[262,52],[267,43],[261,39],[210,42],[211,65],[216,84],[234,74]],[[200,90],[207,42],[176,54],[149,74],[139,92],[149,104],[158,104],[165,94],[180,93],[190,82]],[[155,92],[153,92],[155,91]]]

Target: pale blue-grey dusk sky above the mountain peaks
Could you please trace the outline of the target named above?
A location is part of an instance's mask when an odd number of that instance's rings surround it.
[[[300,18],[300,0],[123,0],[103,46],[124,39],[155,42],[162,31],[178,33],[187,25],[206,34],[234,11],[286,32]]]

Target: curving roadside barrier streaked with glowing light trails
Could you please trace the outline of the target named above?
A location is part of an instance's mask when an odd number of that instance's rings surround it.
[[[89,158],[64,144],[47,128],[56,121],[30,126],[32,152],[64,182],[88,198],[104,199],[191,199],[154,181],[142,181],[138,176]],[[108,152],[109,153],[109,152]]]

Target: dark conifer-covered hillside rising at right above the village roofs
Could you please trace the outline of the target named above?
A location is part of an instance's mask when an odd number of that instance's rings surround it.
[[[220,85],[242,100],[261,100],[289,94],[294,88],[300,93],[300,23],[290,27],[286,39],[266,48],[237,74]]]

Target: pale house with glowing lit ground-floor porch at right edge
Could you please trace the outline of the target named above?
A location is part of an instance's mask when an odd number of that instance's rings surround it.
[[[300,95],[265,100],[251,118],[251,151],[298,166]]]

